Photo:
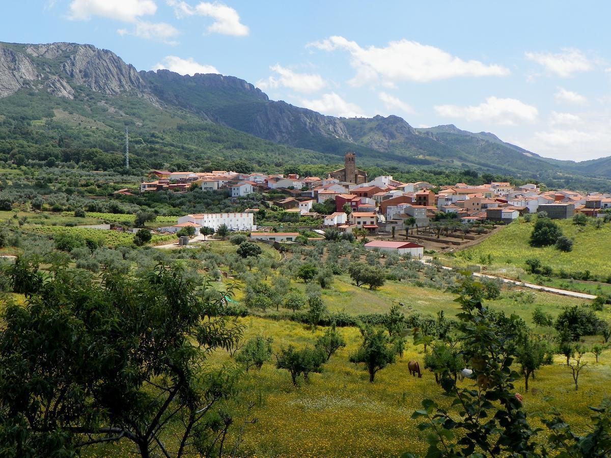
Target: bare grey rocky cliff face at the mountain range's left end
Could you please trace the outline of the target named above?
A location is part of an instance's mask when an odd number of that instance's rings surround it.
[[[0,43],[0,97],[29,86],[71,99],[75,85],[106,95],[147,91],[136,69],[105,49],[75,43]]]

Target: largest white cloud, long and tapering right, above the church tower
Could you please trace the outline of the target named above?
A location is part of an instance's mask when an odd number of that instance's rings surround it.
[[[348,51],[351,65],[357,71],[349,83],[356,86],[381,82],[392,87],[398,81],[427,82],[456,76],[503,76],[509,73],[500,65],[463,60],[434,46],[409,40],[390,42],[386,48],[361,48],[356,42],[334,36],[307,46],[323,51]]]

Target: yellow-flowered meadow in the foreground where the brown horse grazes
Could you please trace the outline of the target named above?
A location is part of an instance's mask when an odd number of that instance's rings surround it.
[[[257,333],[273,336],[274,351],[289,343],[298,347],[313,344],[324,331],[320,328],[312,332],[294,322],[263,318],[249,317],[242,322],[247,325],[246,338]],[[369,383],[366,371],[348,362],[348,355],[360,344],[358,330],[339,331],[347,347],[331,358],[323,373],[311,374],[310,382],[300,387],[293,387],[287,371],[279,371],[271,363],[259,372],[245,374],[241,404],[254,402],[251,416],[258,421],[247,426],[238,456],[400,456],[406,451],[425,452],[423,433],[417,429],[419,421],[412,420],[411,414],[420,408],[423,398],[436,399],[441,405],[447,401],[433,374],[425,371],[422,379],[408,374],[409,360],[422,362],[422,347],[408,344],[403,358],[380,371],[375,383]],[[585,426],[590,415],[588,405],[598,404],[611,383],[611,351],[606,351],[598,364],[589,356],[591,366],[582,375],[577,392],[571,375],[559,365],[560,358],[553,366],[538,371],[530,393],[524,393],[523,382],[517,383],[535,426],[541,426],[540,418],[549,418],[552,409],[562,410],[565,420],[577,429]],[[229,359],[227,353],[219,352],[211,362]],[[244,419],[240,415],[243,413],[235,418],[237,425]],[[122,456],[137,456],[128,442],[123,442],[120,449]],[[117,456],[119,451],[116,446],[107,446],[90,449],[89,453]]]

